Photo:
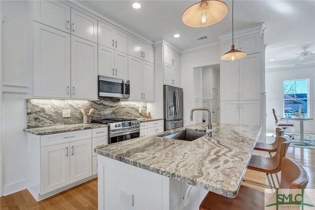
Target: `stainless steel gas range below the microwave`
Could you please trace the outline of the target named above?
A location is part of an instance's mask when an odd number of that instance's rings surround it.
[[[108,144],[140,137],[140,122],[135,119],[107,118],[92,122],[108,125]]]

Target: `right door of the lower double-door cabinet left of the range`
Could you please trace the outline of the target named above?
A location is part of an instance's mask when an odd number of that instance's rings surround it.
[[[92,175],[91,139],[70,142],[70,183]]]

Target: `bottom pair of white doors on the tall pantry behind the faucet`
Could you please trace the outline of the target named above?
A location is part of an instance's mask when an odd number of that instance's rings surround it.
[[[222,101],[221,122],[260,125],[260,100]]]

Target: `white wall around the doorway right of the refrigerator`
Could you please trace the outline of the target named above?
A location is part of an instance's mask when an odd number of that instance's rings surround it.
[[[190,110],[194,107],[193,68],[220,64],[221,44],[182,53],[182,88],[184,91],[184,126],[191,125]]]

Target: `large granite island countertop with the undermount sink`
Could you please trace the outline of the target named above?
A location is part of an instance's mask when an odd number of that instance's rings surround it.
[[[95,152],[160,175],[235,198],[260,126],[213,123],[214,135],[185,141],[158,136],[181,130],[205,131],[207,123],[95,148]]]

